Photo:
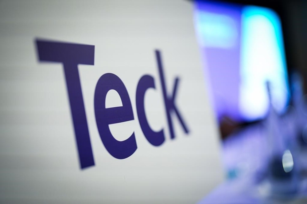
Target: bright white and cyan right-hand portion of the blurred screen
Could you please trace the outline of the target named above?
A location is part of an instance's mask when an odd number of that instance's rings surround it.
[[[248,120],[268,110],[265,82],[270,81],[272,103],[282,112],[289,98],[282,28],[270,9],[245,6],[242,11],[241,85],[239,108]]]

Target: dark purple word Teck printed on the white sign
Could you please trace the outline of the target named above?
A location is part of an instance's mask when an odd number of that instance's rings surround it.
[[[46,40],[36,40],[36,46],[40,62],[60,62],[63,64],[79,153],[80,167],[83,169],[93,166],[95,165],[95,162],[87,127],[78,64],[94,65],[95,46]],[[175,134],[171,112],[177,116],[185,133],[188,134],[189,132],[188,127],[175,104],[179,78],[177,77],[175,79],[173,93],[168,94],[166,91],[167,89],[160,51],[156,50],[155,55],[169,133],[170,137],[173,139],[175,138]],[[156,132],[150,128],[144,108],[145,93],[146,90],[150,88],[155,89],[155,79],[151,75],[146,74],[138,81],[136,90],[136,111],[141,129],[146,139],[150,144],[159,146],[165,141],[164,129]],[[106,96],[108,91],[112,89],[119,94],[122,100],[122,106],[106,108]],[[113,157],[118,159],[130,157],[138,148],[134,133],[132,133],[128,139],[118,141],[113,137],[109,129],[109,124],[134,120],[130,97],[124,83],[118,76],[112,73],[106,73],[99,78],[95,88],[94,107],[97,128],[103,145],[107,151]]]

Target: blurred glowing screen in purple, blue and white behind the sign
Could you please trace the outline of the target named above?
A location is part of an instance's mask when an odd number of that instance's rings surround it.
[[[290,98],[281,21],[272,9],[196,1],[195,26],[212,103],[219,121],[254,121],[272,104],[285,111]]]

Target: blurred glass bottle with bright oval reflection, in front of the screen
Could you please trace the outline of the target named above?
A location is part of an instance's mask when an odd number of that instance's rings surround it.
[[[266,83],[269,99],[269,114],[266,118],[267,148],[269,150],[267,180],[270,184],[269,196],[294,196],[299,190],[299,165],[295,160],[295,145],[289,138],[288,128],[275,111],[270,82]]]

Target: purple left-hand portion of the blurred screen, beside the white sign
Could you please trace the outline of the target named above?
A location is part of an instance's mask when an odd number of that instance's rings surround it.
[[[211,84],[214,109],[219,121],[223,115],[230,115],[236,120],[241,119],[239,114],[241,11],[241,6],[220,6],[196,2],[196,24],[199,38],[204,41],[201,49],[203,55],[206,56],[209,67],[208,80]],[[213,22],[206,21],[204,15],[212,14],[216,16],[210,19]],[[213,39],[213,35],[211,39],[204,36],[207,35],[204,33],[206,26],[210,26],[210,24],[221,28],[216,29],[216,31],[220,31],[219,34],[213,33],[215,37],[220,36],[220,39]],[[227,33],[225,34],[225,32]],[[228,33],[234,33],[233,37],[223,39],[224,36],[227,37]],[[221,44],[211,45],[212,40],[220,40],[220,42],[224,42],[224,46]]]

